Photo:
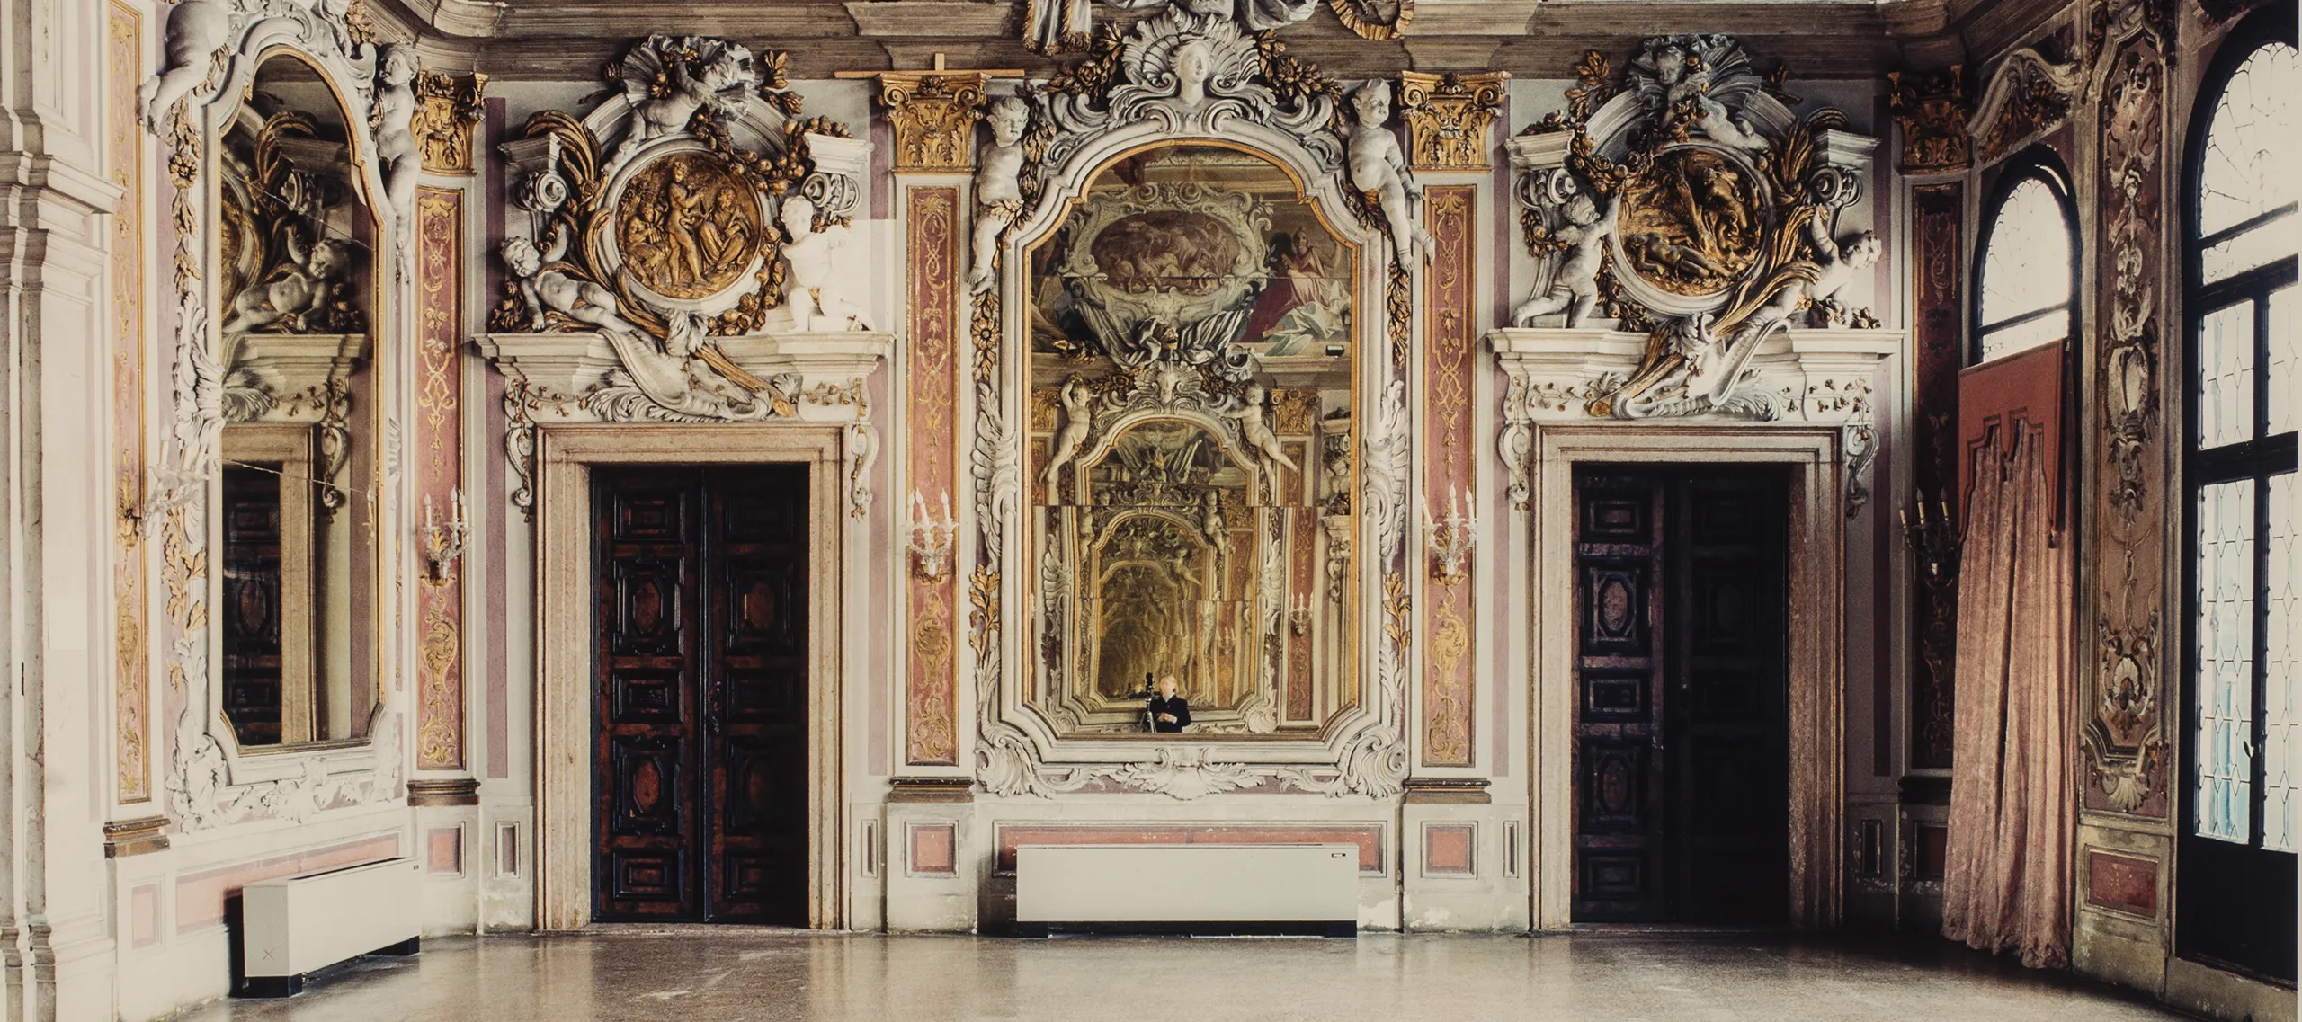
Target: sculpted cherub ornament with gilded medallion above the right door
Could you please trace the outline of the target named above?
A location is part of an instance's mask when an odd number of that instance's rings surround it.
[[[1862,198],[1876,140],[1837,110],[1793,115],[1782,74],[1761,76],[1733,37],[1655,37],[1621,87],[1604,71],[1584,58],[1568,110],[1510,140],[1529,251],[1554,260],[1515,320],[1604,308],[1616,327],[1651,325],[1639,368],[1586,403],[1595,417],[1798,407],[1800,391],[1759,384],[1750,359],[1779,329],[1874,322],[1837,292],[1878,242],[1839,239],[1835,223]],[[1851,456],[1865,440],[1849,437]]]

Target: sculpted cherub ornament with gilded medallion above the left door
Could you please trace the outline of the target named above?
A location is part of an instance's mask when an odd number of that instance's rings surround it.
[[[822,311],[822,232],[845,226],[859,189],[845,163],[822,168],[815,147],[854,147],[838,150],[847,163],[863,147],[843,143],[833,122],[796,117],[783,64],[780,53],[725,39],[649,37],[608,67],[622,83],[608,101],[615,115],[543,110],[504,145],[511,200],[532,230],[504,239],[509,295],[488,322],[504,334],[601,334],[619,371],[578,384],[594,414],[794,414],[794,391],[739,366],[718,338],[767,327],[787,304],[794,258],[815,274],[806,292]],[[622,134],[612,159],[594,122],[608,140]]]

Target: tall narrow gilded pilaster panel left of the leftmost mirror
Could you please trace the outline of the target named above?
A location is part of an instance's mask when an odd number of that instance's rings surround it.
[[[143,74],[143,18],[113,2],[106,21],[106,76],[110,81],[110,138],[106,170],[120,186],[113,214],[113,766],[122,803],[152,801],[152,760],[145,746],[152,716],[152,672],[145,651],[145,550],[136,509],[143,502],[145,467],[145,134],[136,115],[136,78]]]

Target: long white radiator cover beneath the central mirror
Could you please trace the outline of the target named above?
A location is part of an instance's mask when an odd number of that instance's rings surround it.
[[[1020,845],[1017,923],[1351,923],[1356,845]]]

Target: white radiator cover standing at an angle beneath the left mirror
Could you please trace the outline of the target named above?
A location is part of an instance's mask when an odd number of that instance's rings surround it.
[[[302,976],[424,932],[412,859],[267,879],[239,891],[246,976]]]

